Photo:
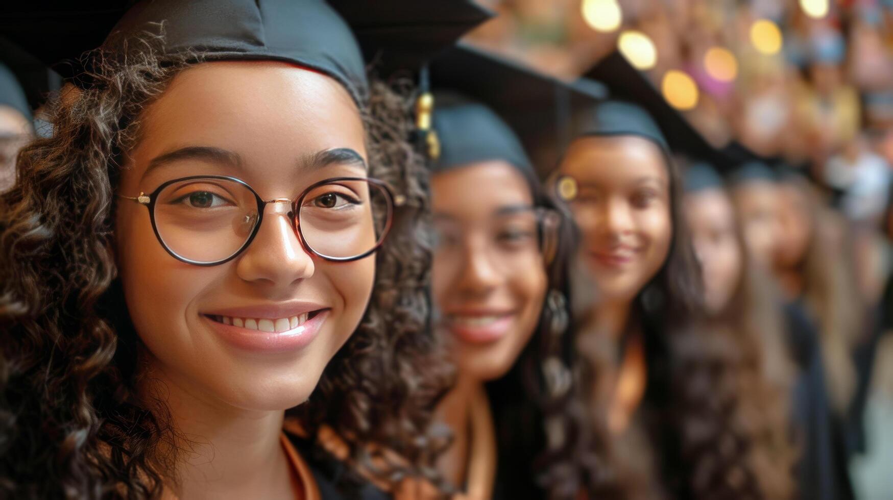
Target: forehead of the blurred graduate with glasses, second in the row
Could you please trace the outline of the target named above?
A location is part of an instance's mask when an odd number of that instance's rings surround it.
[[[475,217],[533,204],[533,195],[522,173],[508,162],[476,162],[435,173],[431,204],[435,212]]]

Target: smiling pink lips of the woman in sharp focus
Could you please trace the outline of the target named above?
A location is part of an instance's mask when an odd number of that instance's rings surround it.
[[[316,312],[313,318],[293,329],[277,332],[266,332],[257,329],[246,329],[234,325],[214,321],[203,316],[204,321],[231,346],[253,352],[276,353],[301,349],[313,341],[319,333],[322,323],[329,317],[329,310]]]

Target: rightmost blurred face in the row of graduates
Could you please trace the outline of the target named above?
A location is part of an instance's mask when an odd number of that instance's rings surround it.
[[[786,271],[803,262],[813,236],[808,194],[795,183],[778,187],[779,238],[775,247],[775,268]]]

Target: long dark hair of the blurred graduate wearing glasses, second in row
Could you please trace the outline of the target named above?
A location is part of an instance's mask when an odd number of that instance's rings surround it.
[[[558,495],[572,484],[574,438],[582,422],[572,398],[572,336],[569,266],[577,236],[572,217],[549,196],[532,171],[518,169],[527,180],[534,205],[555,216],[553,231],[544,230],[547,294],[536,329],[513,367],[486,385],[497,421],[497,484],[501,496],[530,496],[540,490]],[[520,477],[519,477],[520,476]],[[510,479],[511,478],[511,479]]]

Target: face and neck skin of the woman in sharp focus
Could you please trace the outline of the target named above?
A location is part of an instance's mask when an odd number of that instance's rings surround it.
[[[121,196],[151,193],[170,179],[227,175],[264,200],[295,198],[322,179],[366,176],[363,122],[346,89],[287,63],[198,64],[180,72],[140,119]],[[196,148],[217,153],[183,153]],[[354,154],[331,161],[333,150]],[[198,190],[168,206],[213,213],[232,201],[212,185]],[[330,262],[311,254],[288,211],[288,204],[266,205],[246,250],[199,267],[163,249],[145,206],[119,200],[121,281],[146,347],[141,394],[150,404],[161,398],[178,435],[189,439],[178,454],[179,484],[171,486],[180,498],[296,496],[280,443],[285,410],[310,396],[369,303],[374,257]]]

